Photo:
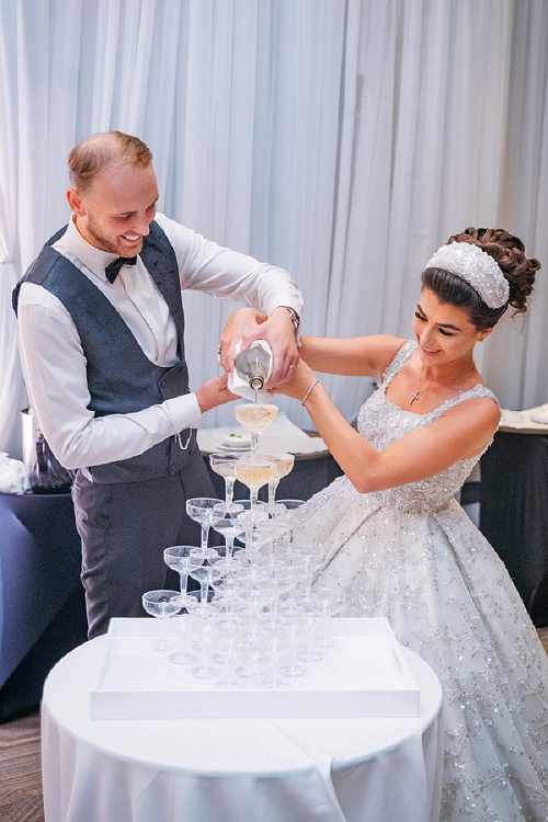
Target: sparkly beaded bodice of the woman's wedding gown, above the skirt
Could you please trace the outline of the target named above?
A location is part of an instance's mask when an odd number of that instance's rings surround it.
[[[406,361],[415,351],[416,343],[412,340],[401,346],[388,368],[383,384],[362,406],[357,418],[357,427],[362,436],[377,450],[384,450],[388,445],[423,425],[429,425],[445,411],[475,397],[489,397],[496,402],[496,397],[489,388],[477,385],[467,391],[459,391],[457,397],[430,411],[427,414],[415,414],[395,406],[386,396],[386,389]],[[486,446],[484,450],[489,447]],[[484,452],[482,452],[484,453]],[[412,513],[431,513],[447,507],[450,500],[461,487],[472,470],[481,454],[471,459],[461,459],[445,471],[407,486],[377,491],[379,501],[388,507]]]

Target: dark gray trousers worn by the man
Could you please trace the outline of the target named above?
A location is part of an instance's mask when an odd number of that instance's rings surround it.
[[[146,591],[179,590],[163,562],[172,545],[199,545],[199,525],[186,500],[216,496],[199,450],[184,471],[137,482],[91,482],[78,472],[72,488],[82,540],[82,583],[89,638],[105,633],[111,617],[142,617]]]

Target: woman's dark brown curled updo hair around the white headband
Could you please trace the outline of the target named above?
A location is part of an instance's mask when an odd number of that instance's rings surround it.
[[[478,331],[496,326],[509,306],[515,308],[514,315],[527,310],[525,304],[540,263],[538,260],[527,260],[525,247],[518,237],[502,228],[467,228],[463,233],[449,237],[447,246],[452,242],[478,246],[492,256],[510,286],[510,296],[500,308],[489,308],[479,293],[461,277],[442,267],[427,267],[422,274],[423,287],[430,288],[439,302],[466,309]]]

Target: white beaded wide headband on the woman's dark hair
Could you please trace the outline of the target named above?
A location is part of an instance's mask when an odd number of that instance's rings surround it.
[[[502,308],[509,301],[510,286],[500,265],[471,242],[442,246],[426,269],[444,269],[465,279],[489,308]]]

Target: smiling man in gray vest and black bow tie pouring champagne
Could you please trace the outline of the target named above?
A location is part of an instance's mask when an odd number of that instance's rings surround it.
[[[215,495],[196,444],[202,413],[233,399],[226,375],[189,387],[181,292],[247,301],[221,338],[270,342],[270,385],[298,362],[301,297],[289,274],[221,248],[157,214],[152,156],[110,132],[69,156],[71,219],[14,292],[31,406],[54,454],[78,469],[89,636],[112,616],[141,616],[145,591],[163,587],[162,551],[193,543],[192,496]]]

